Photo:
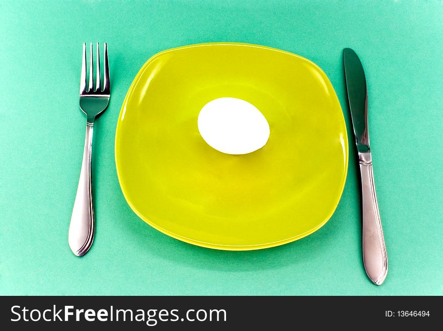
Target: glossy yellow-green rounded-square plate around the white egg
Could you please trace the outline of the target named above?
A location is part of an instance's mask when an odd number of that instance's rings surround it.
[[[221,153],[198,114],[219,97],[255,105],[270,126],[250,154]],[[269,47],[212,43],[158,53],[121,108],[115,162],[126,201],[157,230],[208,248],[253,250],[321,228],[343,191],[346,127],[313,62]]]

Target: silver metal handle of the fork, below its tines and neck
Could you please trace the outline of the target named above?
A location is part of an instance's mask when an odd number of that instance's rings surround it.
[[[76,200],[72,209],[69,225],[68,242],[71,251],[83,256],[90,249],[94,240],[94,207],[91,185],[91,154],[94,123],[87,123],[85,148],[83,150],[82,170]]]

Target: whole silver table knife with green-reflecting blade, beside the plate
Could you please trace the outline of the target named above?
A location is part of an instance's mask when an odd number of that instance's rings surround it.
[[[343,50],[343,64],[360,165],[364,270],[374,284],[381,285],[388,274],[388,255],[377,203],[369,145],[366,78],[360,59],[352,49]]]

